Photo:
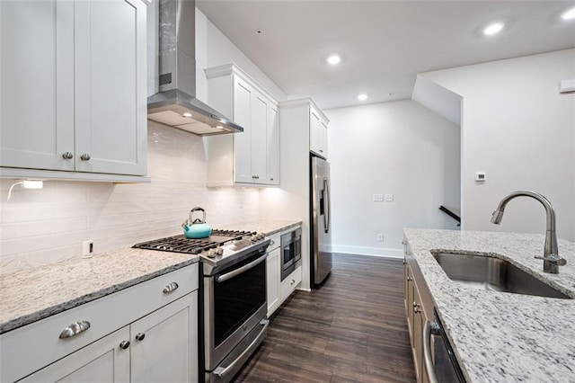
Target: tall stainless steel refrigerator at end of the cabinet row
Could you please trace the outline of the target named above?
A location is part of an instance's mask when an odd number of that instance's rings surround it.
[[[332,272],[332,206],[330,163],[311,156],[311,286],[318,287]]]

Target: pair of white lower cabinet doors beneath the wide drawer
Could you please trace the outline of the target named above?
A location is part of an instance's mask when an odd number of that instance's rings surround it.
[[[192,382],[198,377],[194,291],[23,382]]]

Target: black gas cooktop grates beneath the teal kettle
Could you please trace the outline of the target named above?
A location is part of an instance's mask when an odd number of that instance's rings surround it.
[[[212,230],[207,238],[191,239],[185,236],[168,236],[167,238],[154,239],[152,241],[142,242],[133,245],[138,249],[158,250],[162,252],[183,253],[183,254],[201,254],[209,250],[217,249],[221,245],[234,240],[241,240],[243,237],[255,236],[252,231],[243,230]],[[260,238],[258,238],[260,239]],[[217,251],[212,252],[216,255]]]

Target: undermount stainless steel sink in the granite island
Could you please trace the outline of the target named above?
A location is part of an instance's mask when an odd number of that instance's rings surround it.
[[[484,255],[431,252],[447,276],[477,289],[571,299],[561,291],[519,269],[513,263]]]

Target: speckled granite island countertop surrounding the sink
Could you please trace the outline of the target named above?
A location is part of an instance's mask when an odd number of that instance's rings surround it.
[[[429,250],[491,254],[575,298],[575,243],[567,261],[543,272],[544,236],[456,230],[403,230],[465,377],[471,382],[574,382],[575,299],[473,289],[451,281]]]

